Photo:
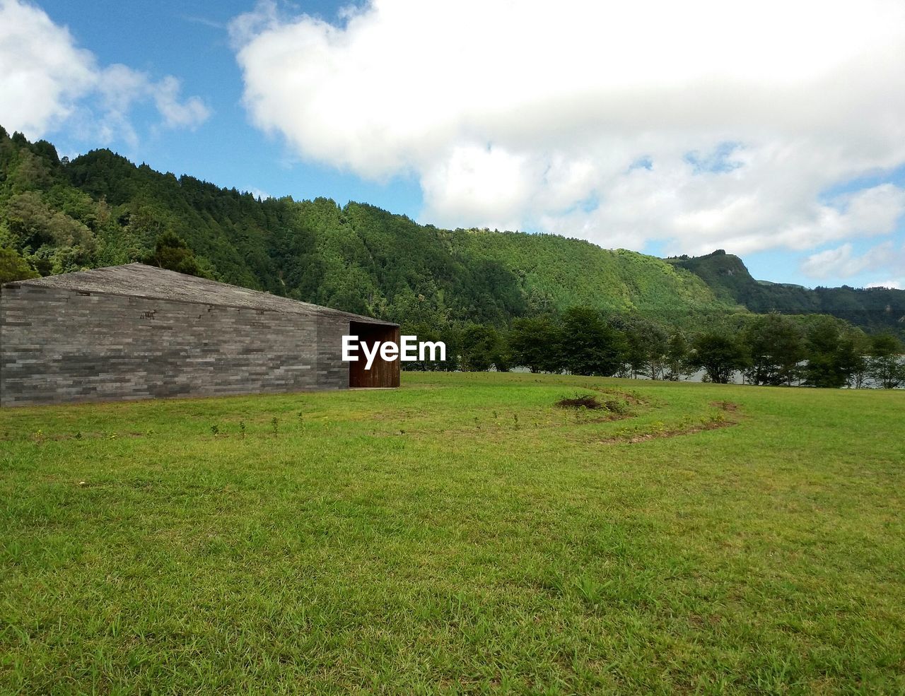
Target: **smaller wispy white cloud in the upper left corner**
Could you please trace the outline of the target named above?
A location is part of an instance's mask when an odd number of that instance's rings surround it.
[[[38,138],[71,123],[102,142],[134,143],[129,115],[138,103],[153,103],[166,127],[195,127],[209,117],[201,99],[181,99],[179,90],[172,76],[99,66],[42,9],[0,0],[0,124],[7,129]]]

